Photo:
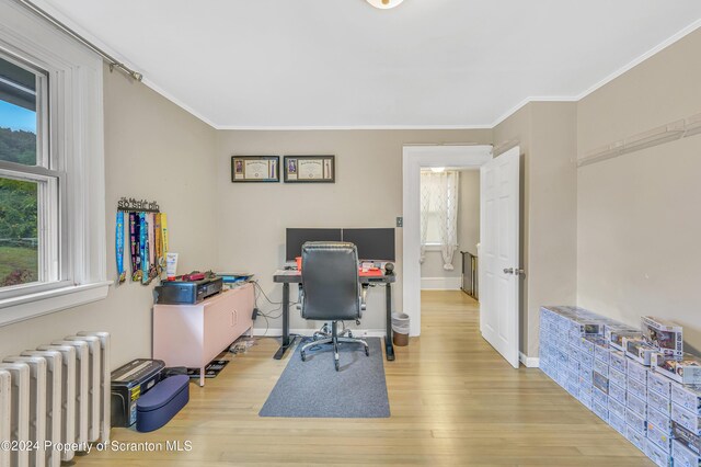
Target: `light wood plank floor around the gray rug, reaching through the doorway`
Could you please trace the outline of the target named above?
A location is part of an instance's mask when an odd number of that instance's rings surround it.
[[[204,388],[191,385],[191,402],[165,428],[112,432],[164,451],[125,445],[141,449],[93,451],[76,465],[653,465],[539,369],[502,360],[480,337],[478,304],[463,293],[423,293],[422,326],[421,338],[397,348],[397,361],[384,361],[389,419],[260,418],[290,357],[273,360],[277,342],[262,339]],[[189,441],[192,451],[166,452],[168,441]]]

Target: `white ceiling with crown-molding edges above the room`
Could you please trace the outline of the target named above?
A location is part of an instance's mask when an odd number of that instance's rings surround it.
[[[698,0],[36,0],[217,128],[491,127],[696,29]]]

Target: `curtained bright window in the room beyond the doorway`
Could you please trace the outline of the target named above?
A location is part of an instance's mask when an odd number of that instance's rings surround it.
[[[453,270],[458,249],[459,176],[455,170],[421,172],[421,261],[426,247],[439,247],[446,271]]]

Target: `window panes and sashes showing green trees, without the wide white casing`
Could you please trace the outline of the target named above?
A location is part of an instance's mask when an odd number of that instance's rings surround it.
[[[60,173],[47,145],[47,76],[0,54],[0,289],[58,281]]]

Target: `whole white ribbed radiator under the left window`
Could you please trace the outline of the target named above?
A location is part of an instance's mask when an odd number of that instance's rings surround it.
[[[110,334],[81,332],[0,363],[0,441],[32,449],[0,449],[0,467],[60,467],[68,444],[102,440],[111,428]],[[46,443],[45,442],[49,442]],[[44,449],[45,445],[59,446]],[[36,449],[36,447],[39,447]]]

